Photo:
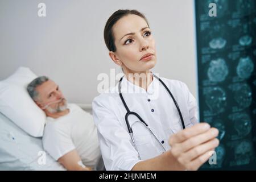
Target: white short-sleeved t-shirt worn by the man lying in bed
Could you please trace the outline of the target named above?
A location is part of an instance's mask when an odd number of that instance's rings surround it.
[[[68,104],[69,114],[57,119],[47,117],[43,147],[55,160],[76,149],[82,163],[95,167],[101,156],[97,129],[92,115],[75,104]]]

